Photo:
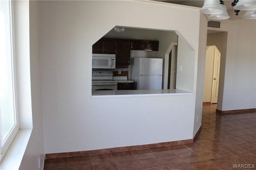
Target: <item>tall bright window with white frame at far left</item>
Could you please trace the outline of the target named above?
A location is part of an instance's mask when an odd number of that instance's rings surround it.
[[[1,160],[18,126],[12,1],[0,1],[0,139]]]

